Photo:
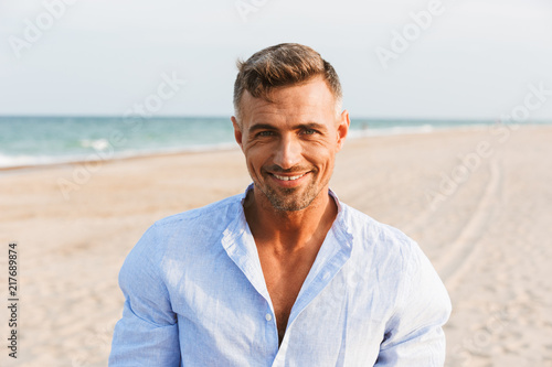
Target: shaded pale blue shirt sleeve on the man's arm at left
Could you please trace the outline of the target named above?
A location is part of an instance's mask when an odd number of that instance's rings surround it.
[[[160,277],[162,253],[156,226],[130,251],[119,272],[125,295],[117,322],[109,366],[179,366],[177,316]]]

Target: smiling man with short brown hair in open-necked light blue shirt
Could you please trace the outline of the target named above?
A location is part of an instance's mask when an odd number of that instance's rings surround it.
[[[110,365],[443,366],[450,302],[429,261],[329,190],[350,122],[333,67],[279,44],[238,68],[253,185],[144,235]]]

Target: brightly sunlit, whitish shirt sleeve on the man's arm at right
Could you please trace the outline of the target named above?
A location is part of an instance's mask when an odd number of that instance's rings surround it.
[[[442,367],[452,305],[445,285],[417,244],[405,263],[403,296],[386,325],[375,367]]]

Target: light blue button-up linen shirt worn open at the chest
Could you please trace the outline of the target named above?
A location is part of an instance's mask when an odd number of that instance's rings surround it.
[[[157,222],[130,251],[109,365],[443,366],[450,300],[428,259],[330,194],[338,215],[279,347],[241,194]]]

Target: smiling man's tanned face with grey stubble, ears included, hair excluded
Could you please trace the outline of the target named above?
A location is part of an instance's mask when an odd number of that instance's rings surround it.
[[[321,77],[270,91],[268,102],[243,95],[241,125],[232,117],[247,170],[277,211],[301,211],[327,195],[349,114],[336,116],[335,98]]]

